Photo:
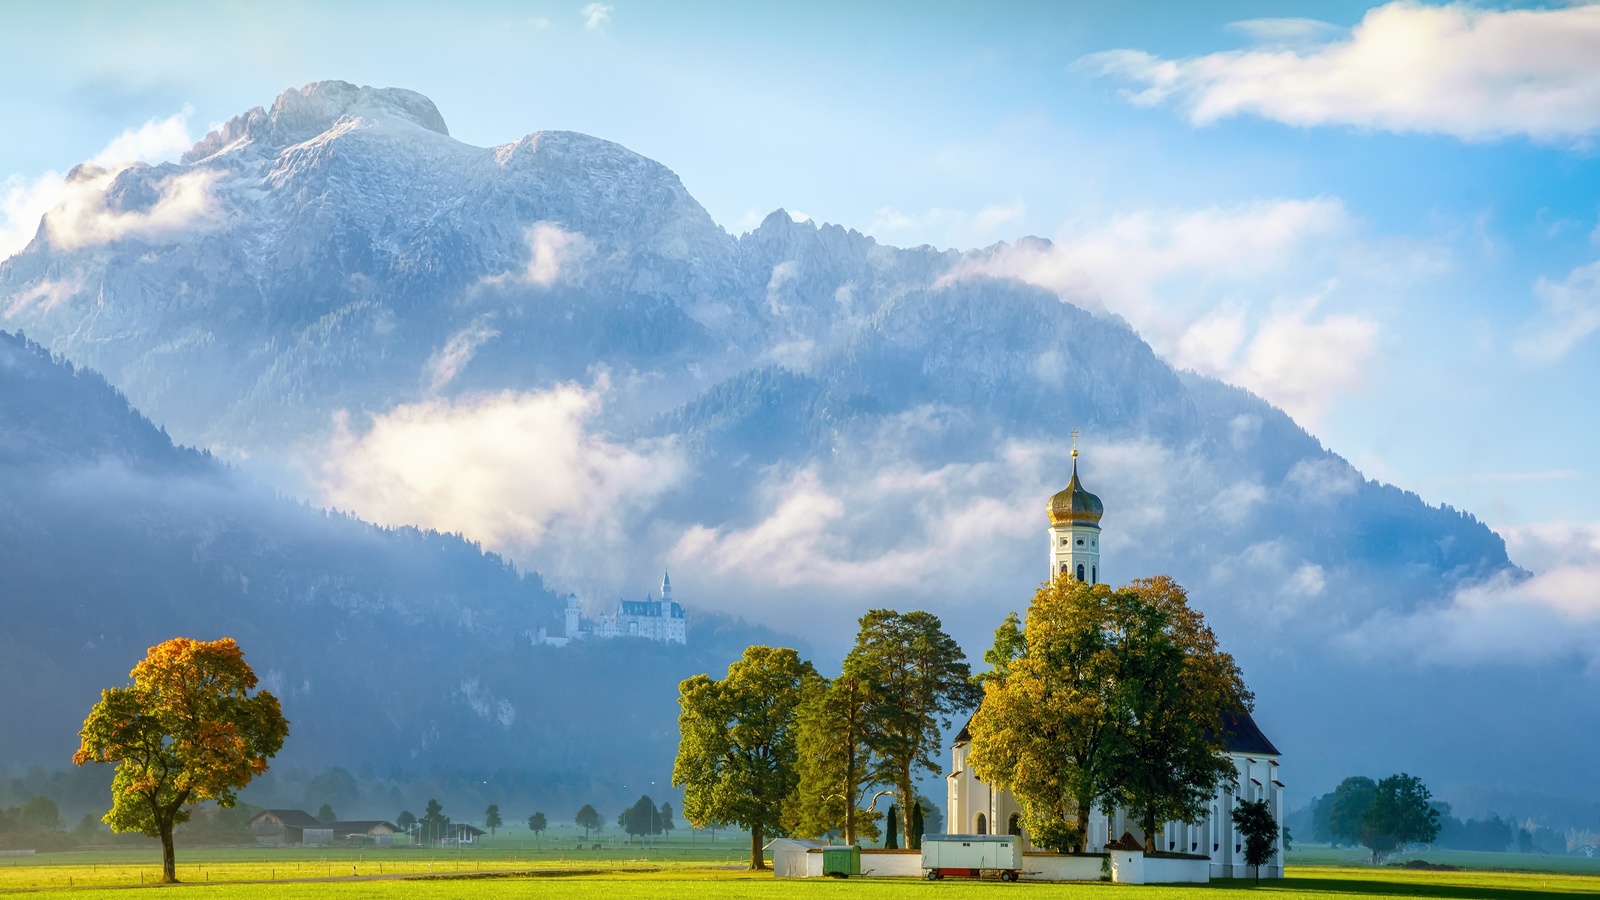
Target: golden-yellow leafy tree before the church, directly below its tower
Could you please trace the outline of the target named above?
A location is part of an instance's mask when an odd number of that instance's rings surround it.
[[[984,682],[968,732],[973,772],[994,790],[1010,790],[1022,807],[1029,838],[1053,850],[1080,849],[1090,810],[1109,806],[1117,729],[1120,661],[1112,639],[1114,597],[1107,585],[1061,577],[1034,596],[1022,633],[997,633],[1003,677]]]

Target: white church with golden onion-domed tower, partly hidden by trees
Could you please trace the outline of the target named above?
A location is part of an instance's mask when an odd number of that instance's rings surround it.
[[[1074,432],[1077,437],[1077,432]],[[1078,482],[1078,452],[1072,448],[1072,479],[1067,487],[1050,498],[1050,575],[1070,575],[1096,585],[1099,578],[1101,500]],[[971,722],[968,722],[971,724]],[[1131,834],[1146,850],[1208,857],[1213,878],[1245,878],[1253,874],[1245,865],[1245,842],[1234,831],[1234,804],[1238,801],[1267,801],[1272,817],[1278,822],[1278,850],[1272,863],[1261,866],[1262,878],[1283,876],[1283,777],[1280,773],[1278,748],[1261,733],[1250,714],[1227,722],[1230,730],[1227,754],[1234,762],[1235,777],[1224,780],[1211,798],[1210,809],[1197,823],[1170,822],[1160,834],[1146,836],[1136,817],[1125,809],[1112,815],[1101,810],[1090,814],[1088,846],[1091,854],[1106,852],[1106,846]],[[946,804],[946,828],[965,834],[1016,834],[1024,849],[1027,833],[1022,828],[1022,807],[1010,791],[994,790],[973,775],[966,765],[971,735],[966,727],[955,735],[950,746],[950,773],[946,777],[949,799]]]

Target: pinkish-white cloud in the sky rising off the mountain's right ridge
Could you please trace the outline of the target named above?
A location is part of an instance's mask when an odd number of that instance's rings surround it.
[[[1378,323],[1318,312],[1336,279],[1293,303],[1278,296],[1280,285],[1302,283],[1307,269],[1338,269],[1354,231],[1330,199],[1141,211],[1056,242],[971,253],[946,279],[1011,277],[1115,312],[1176,367],[1248,388],[1315,426],[1365,383]],[[1264,291],[1270,299],[1250,299]]]

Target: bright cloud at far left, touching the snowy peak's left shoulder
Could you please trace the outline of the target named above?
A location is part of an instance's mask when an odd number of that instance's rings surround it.
[[[131,232],[162,232],[186,226],[210,211],[210,179],[171,179],[162,197],[146,213],[107,213],[104,191],[122,170],[138,162],[174,159],[194,146],[189,135],[190,110],[168,119],[152,119],[112,138],[106,149],[86,160],[78,178],[46,171],[37,178],[10,176],[0,184],[0,259],[27,247],[40,219],[51,210],[50,237],[58,247],[82,247]]]

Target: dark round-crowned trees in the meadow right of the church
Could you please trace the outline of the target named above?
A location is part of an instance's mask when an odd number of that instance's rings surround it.
[[[1373,781],[1352,775],[1312,807],[1312,839],[1330,844],[1363,846],[1373,863],[1406,844],[1429,844],[1438,838],[1440,810],[1434,794],[1416,775],[1390,775]],[[1504,850],[1507,841],[1498,847]]]

